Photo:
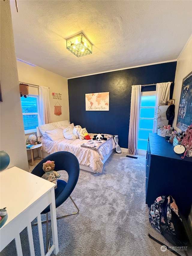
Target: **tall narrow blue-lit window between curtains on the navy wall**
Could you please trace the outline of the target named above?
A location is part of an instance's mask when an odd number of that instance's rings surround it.
[[[155,115],[155,95],[154,92],[143,92],[140,98],[140,118],[139,118],[139,134],[138,149],[147,150],[149,133],[153,132],[154,115]]]

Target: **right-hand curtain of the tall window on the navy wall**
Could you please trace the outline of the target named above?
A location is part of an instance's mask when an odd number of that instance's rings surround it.
[[[167,101],[170,99],[170,86],[171,86],[171,82],[157,83],[156,85],[155,118],[154,118],[153,132],[157,132],[157,118],[158,118],[157,115],[158,115],[159,102],[162,99],[166,99]]]

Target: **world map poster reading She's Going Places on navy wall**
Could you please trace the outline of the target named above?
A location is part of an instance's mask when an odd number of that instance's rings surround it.
[[[86,111],[109,111],[109,92],[85,94]]]

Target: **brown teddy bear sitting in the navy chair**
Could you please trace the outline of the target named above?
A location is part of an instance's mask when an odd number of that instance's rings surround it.
[[[57,188],[57,178],[59,178],[61,175],[58,172],[54,171],[54,163],[54,161],[48,160],[43,164],[43,170],[45,173],[41,178],[55,183],[55,188]]]

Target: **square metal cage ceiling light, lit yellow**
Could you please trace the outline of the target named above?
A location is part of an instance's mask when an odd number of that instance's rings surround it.
[[[67,49],[77,57],[92,53],[92,44],[80,33],[67,39]]]

